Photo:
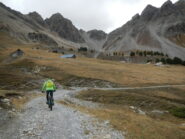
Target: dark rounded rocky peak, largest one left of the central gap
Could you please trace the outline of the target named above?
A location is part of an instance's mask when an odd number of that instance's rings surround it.
[[[50,30],[57,32],[60,37],[77,43],[85,42],[80,35],[79,30],[72,24],[70,20],[64,18],[60,13],[52,15],[45,21]]]

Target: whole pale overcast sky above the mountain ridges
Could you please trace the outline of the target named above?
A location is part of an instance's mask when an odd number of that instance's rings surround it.
[[[0,0],[24,14],[37,11],[43,18],[61,13],[77,28],[110,32],[141,13],[148,4],[160,7],[167,0]],[[177,0],[171,0],[176,2]]]

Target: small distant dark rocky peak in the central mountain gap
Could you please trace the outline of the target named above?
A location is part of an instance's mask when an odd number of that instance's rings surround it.
[[[107,34],[102,30],[90,30],[87,34],[89,34],[89,37],[94,40],[103,40],[107,37]]]

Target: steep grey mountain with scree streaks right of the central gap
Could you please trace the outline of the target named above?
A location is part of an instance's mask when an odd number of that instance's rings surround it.
[[[153,50],[185,60],[185,0],[148,5],[108,35],[104,51]]]

